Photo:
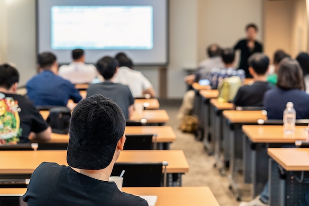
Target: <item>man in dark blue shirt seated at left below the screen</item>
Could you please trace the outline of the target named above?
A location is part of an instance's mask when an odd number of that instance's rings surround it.
[[[59,77],[56,56],[50,52],[39,54],[42,72],[26,84],[28,97],[36,106],[66,106],[68,100],[81,100],[79,91],[68,80]]]

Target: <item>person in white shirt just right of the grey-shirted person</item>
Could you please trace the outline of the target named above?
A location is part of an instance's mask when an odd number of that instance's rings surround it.
[[[141,72],[133,70],[131,59],[122,57],[118,62],[119,69],[114,82],[128,85],[134,97],[142,97],[144,94],[155,96],[153,85]]]

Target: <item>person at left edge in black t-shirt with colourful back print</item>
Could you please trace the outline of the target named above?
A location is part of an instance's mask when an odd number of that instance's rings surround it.
[[[30,133],[34,138],[50,139],[51,129],[35,105],[26,97],[16,94],[18,82],[19,73],[14,67],[0,65],[0,121],[2,126],[6,125],[0,130],[1,133],[5,129],[18,133],[17,136],[6,139],[6,143],[29,143]],[[10,139],[15,140],[11,142]]]

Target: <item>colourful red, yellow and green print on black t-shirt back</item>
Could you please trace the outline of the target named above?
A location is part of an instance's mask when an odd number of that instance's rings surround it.
[[[0,144],[17,144],[22,133],[18,102],[0,93]]]

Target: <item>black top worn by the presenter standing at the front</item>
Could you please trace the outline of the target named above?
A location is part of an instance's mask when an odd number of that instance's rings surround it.
[[[241,51],[239,69],[243,69],[246,72],[246,78],[252,78],[249,73],[248,59],[253,53],[263,52],[262,44],[258,41],[255,41],[254,49],[249,49],[249,47],[247,46],[247,40],[240,40],[234,46],[234,50],[237,49],[240,49]]]

